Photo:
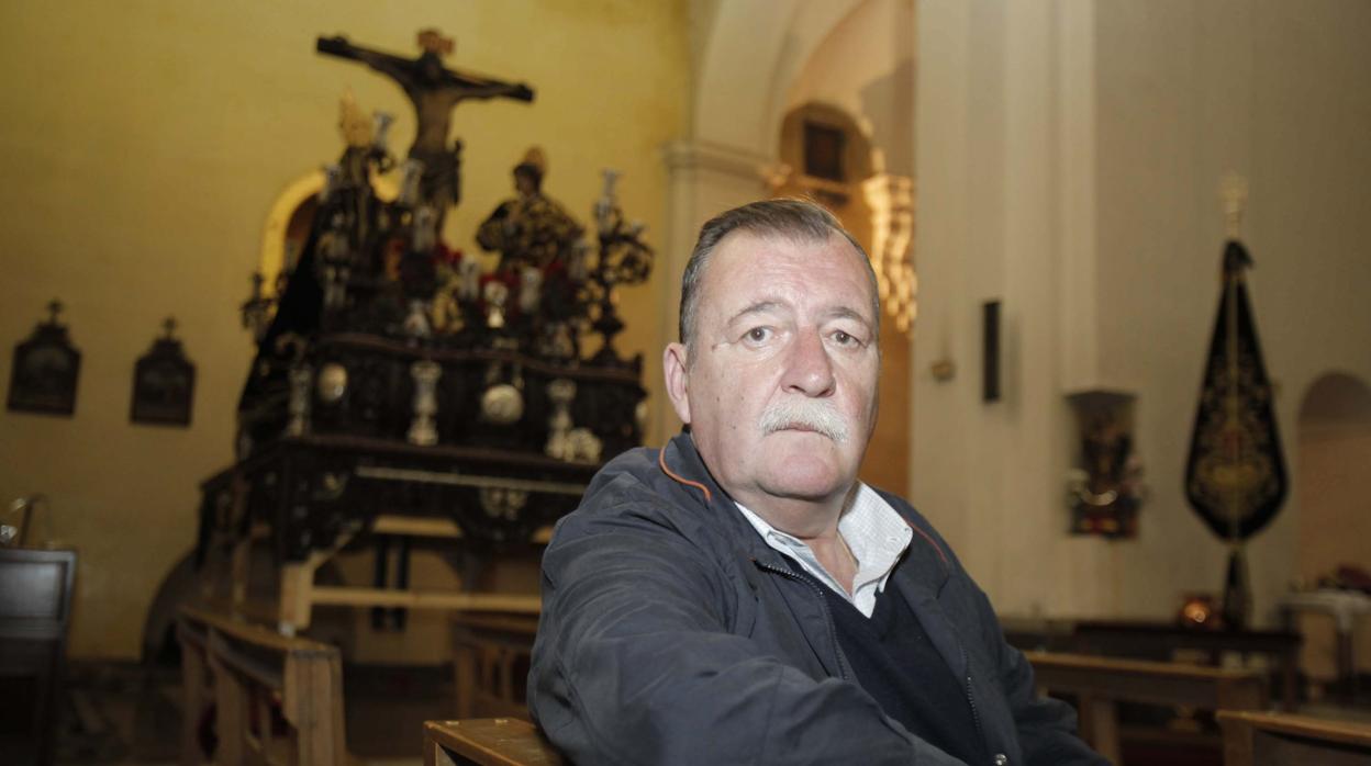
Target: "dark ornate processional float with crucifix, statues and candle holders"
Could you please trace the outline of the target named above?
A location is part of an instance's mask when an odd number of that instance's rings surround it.
[[[440,53],[451,41],[436,32],[420,45],[404,59],[318,40],[321,53],[365,63],[404,90],[414,145],[396,162],[391,116],[365,115],[345,97],[345,148],[326,167],[298,262],[274,297],[256,277],[243,307],[256,356],[239,401],[237,460],[203,484],[197,560],[228,560],[240,603],[248,547],[269,539],[284,632],[307,626],[322,603],[536,608],[404,591],[409,541],[444,537],[474,571],[529,547],[606,458],[642,440],[642,356],[614,349],[624,329],[614,291],[647,278],[653,251],[642,225],[624,218],[616,174],[605,171],[587,233],[543,192],[547,159],[533,148],[514,167],[514,196],[474,233],[494,266],[448,247],[443,222],[462,200],[451,110],[469,99],[532,101],[533,90],[447,69]],[[398,193],[384,199],[377,177],[392,169]],[[588,340],[598,345],[590,355]],[[343,547],[369,543],[373,588],[314,582]],[[399,610],[389,614],[403,623]]]

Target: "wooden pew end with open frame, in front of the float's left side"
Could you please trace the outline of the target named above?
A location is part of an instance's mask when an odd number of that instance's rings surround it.
[[[182,610],[177,636],[185,684],[182,766],[202,762],[196,726],[208,704],[210,681],[218,734],[214,763],[347,763],[336,647],[196,610]],[[277,707],[284,736],[276,733]]]

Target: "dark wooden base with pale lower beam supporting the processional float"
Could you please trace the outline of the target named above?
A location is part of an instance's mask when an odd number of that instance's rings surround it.
[[[317,584],[315,574],[372,536],[450,541],[469,562],[535,549],[596,467],[499,449],[280,438],[203,484],[197,556],[218,569],[204,600],[251,610],[251,554],[270,545],[281,562],[270,622],[287,636],[310,626],[315,606],[533,613],[536,597],[476,593],[470,582],[461,592],[340,588]]]

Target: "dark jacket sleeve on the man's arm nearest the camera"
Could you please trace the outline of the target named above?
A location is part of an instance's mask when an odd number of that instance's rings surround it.
[[[754,608],[733,593],[658,517],[569,517],[543,558],[535,719],[577,763],[958,763],[732,633]]]

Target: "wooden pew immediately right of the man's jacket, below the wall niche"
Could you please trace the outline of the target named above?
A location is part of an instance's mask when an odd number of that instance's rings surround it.
[[[1041,692],[1076,696],[1082,737],[1115,763],[1120,702],[1204,710],[1263,710],[1268,702],[1265,678],[1254,670],[1052,652],[1024,656]]]

